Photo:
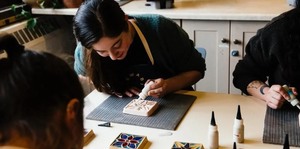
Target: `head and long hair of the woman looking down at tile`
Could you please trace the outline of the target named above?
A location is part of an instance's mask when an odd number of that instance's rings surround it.
[[[83,46],[88,78],[99,92],[120,95],[126,86],[119,70],[105,60],[122,60],[134,39],[135,29],[115,0],[88,0],[74,16],[73,32]],[[109,59],[110,58],[110,59]],[[109,85],[108,85],[109,84]]]

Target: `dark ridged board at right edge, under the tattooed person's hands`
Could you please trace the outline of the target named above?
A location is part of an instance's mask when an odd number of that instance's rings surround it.
[[[267,106],[262,142],[283,145],[285,134],[288,133],[289,146],[300,147],[299,112],[297,107],[289,103],[277,110]]]

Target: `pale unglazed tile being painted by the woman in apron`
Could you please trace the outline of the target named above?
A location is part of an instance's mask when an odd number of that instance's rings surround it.
[[[123,109],[123,113],[140,116],[150,116],[157,108],[158,102],[140,100],[135,103],[137,99],[132,100]]]

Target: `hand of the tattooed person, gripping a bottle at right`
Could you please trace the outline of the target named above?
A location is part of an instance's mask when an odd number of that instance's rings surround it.
[[[294,95],[298,95],[297,89],[290,87]],[[290,97],[284,88],[280,85],[272,85],[266,94],[266,102],[269,107],[273,109],[279,109],[283,105],[283,102],[289,100]]]

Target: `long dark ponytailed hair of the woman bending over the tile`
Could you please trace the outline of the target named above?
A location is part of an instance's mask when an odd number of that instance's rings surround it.
[[[122,94],[126,85],[120,78],[116,65],[109,57],[100,56],[92,45],[102,37],[115,38],[128,31],[125,13],[115,0],[88,0],[74,16],[73,32],[83,46],[87,76],[99,92]]]

